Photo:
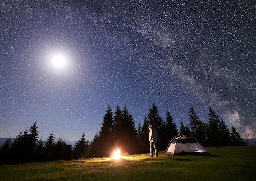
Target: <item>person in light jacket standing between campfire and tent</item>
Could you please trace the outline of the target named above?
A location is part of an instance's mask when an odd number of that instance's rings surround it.
[[[149,124],[149,136],[148,136],[148,141],[150,142],[150,156],[153,157],[153,147],[155,149],[155,156],[158,157],[158,152],[157,152],[157,129],[153,127],[153,123]]]

